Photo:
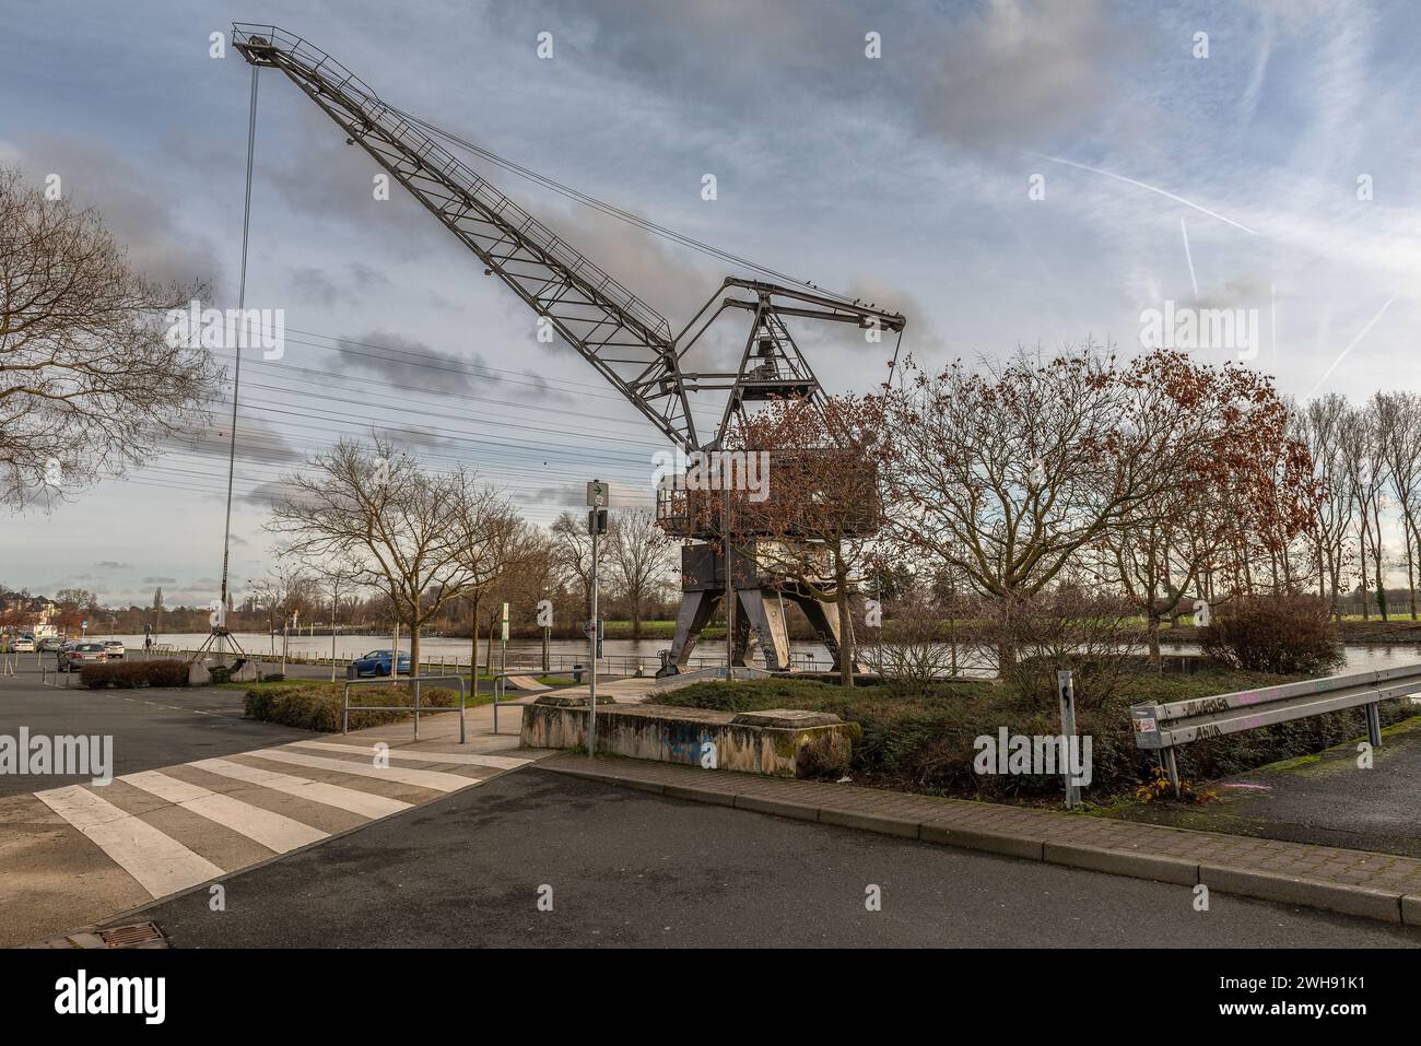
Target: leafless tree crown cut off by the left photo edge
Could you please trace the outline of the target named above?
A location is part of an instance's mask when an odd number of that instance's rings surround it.
[[[203,416],[210,354],[165,323],[203,290],[145,280],[97,212],[0,166],[0,502],[118,475]]]

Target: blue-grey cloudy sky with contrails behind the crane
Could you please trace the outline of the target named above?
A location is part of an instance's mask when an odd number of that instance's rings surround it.
[[[549,178],[901,308],[905,351],[932,365],[1087,338],[1135,352],[1147,317],[1228,308],[1248,337],[1192,351],[1285,392],[1421,384],[1421,11],[1404,0],[3,6],[0,162],[58,173],[135,264],[210,280],[217,306],[236,304],[250,67],[210,57],[210,34],[263,21]],[[398,186],[374,199],[377,171],[261,72],[247,304],[283,308],[287,343],[243,361],[239,594],[266,570],[281,476],[341,433],[466,462],[539,522],[594,476],[648,492],[664,448]],[[489,175],[675,330],[728,274]],[[885,372],[853,331],[810,347],[831,391]],[[126,479],[0,520],[0,581],[213,598],[222,414]]]

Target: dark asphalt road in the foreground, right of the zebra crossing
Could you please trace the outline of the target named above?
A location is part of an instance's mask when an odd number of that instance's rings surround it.
[[[1218,893],[1199,912],[1188,887],[531,767],[223,881],[226,911],[203,888],[144,917],[179,948],[1421,947],[1415,929]]]

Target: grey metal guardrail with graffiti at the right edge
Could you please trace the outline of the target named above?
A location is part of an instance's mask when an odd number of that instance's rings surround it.
[[[1373,746],[1380,746],[1380,703],[1414,694],[1421,694],[1421,665],[1333,675],[1326,679],[1302,679],[1212,698],[1165,703],[1147,701],[1130,706],[1130,719],[1135,746],[1145,752],[1160,752],[1169,783],[1178,792],[1179,769],[1175,749],[1181,745],[1327,712],[1364,708],[1367,739]]]

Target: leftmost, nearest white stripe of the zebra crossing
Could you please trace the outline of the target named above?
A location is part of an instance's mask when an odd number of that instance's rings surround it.
[[[222,868],[206,857],[82,784],[36,792],[34,797],[84,833],[153,897],[166,897],[222,874]]]

